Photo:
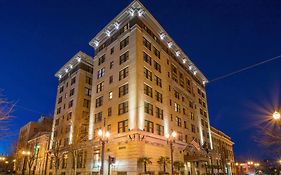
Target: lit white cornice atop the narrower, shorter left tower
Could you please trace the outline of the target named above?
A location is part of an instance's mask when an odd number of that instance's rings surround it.
[[[79,51],[75,54],[60,70],[55,74],[55,77],[61,79],[65,74],[70,72],[79,63],[85,63],[86,65],[93,66],[93,58],[86,53]]]

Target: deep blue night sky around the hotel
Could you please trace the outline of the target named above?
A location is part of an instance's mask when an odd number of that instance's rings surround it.
[[[16,102],[12,131],[54,111],[54,74],[130,0],[1,0],[0,88]],[[281,1],[143,0],[209,80],[281,54]],[[281,59],[211,82],[211,124],[230,135],[237,158],[266,158],[256,125],[281,102]],[[280,103],[279,103],[280,104]],[[24,109],[24,108],[28,108]],[[280,105],[279,105],[280,109]],[[10,151],[0,141],[0,153]]]

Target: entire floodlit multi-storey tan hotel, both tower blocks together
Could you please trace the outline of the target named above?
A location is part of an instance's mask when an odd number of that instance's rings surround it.
[[[188,145],[212,149],[207,79],[150,12],[133,1],[90,45],[94,58],[79,52],[56,73],[48,174],[99,174],[99,130],[110,133],[103,174],[144,173],[144,157],[147,171],[163,173],[158,160],[171,155],[172,131],[174,161],[183,163],[175,172],[205,173],[208,160],[191,159]]]

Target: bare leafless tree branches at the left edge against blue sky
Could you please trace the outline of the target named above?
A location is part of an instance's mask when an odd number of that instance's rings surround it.
[[[10,136],[9,122],[12,120],[11,113],[13,111],[14,104],[8,102],[1,93],[0,90],[0,140],[4,140],[7,136]]]

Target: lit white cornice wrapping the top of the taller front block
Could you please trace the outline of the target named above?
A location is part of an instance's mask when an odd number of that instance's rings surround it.
[[[176,55],[177,59],[186,66],[186,68],[200,81],[203,85],[208,83],[204,74],[195,66],[195,64],[189,59],[189,57],[183,52],[183,50],[176,44],[176,42],[169,36],[164,28],[158,23],[158,21],[152,16],[152,14],[145,8],[145,6],[139,1],[134,0],[129,4],[121,13],[119,13],[109,24],[107,24],[90,42],[90,46],[97,49],[103,44],[110,36],[119,30],[124,24],[130,21],[134,16],[138,16],[140,19],[150,24],[157,32],[156,35],[160,40],[166,43],[167,47]]]

